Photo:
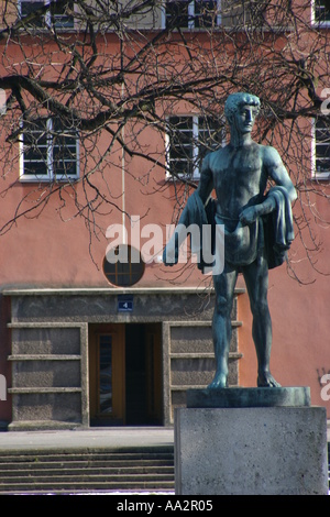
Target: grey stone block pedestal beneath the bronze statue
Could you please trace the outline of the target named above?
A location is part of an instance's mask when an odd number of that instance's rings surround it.
[[[309,406],[309,388],[201,392],[175,413],[177,495],[328,494],[327,414]]]

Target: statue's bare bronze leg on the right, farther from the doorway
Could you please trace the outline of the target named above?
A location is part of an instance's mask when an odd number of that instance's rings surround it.
[[[243,275],[253,316],[252,337],[257,356],[257,386],[280,386],[270,372],[272,319],[268,309],[268,265],[264,256],[244,267]]]

